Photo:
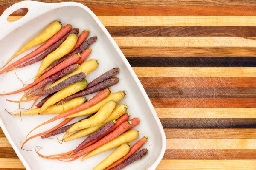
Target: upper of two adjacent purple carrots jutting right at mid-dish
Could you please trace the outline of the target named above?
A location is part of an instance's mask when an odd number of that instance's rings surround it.
[[[105,72],[104,74],[100,75],[99,77],[94,79],[92,82],[90,82],[84,90],[91,88],[96,84],[99,84],[100,82],[103,82],[107,79],[110,79],[111,77],[114,77],[118,73],[119,73],[119,68],[112,68],[111,70]]]

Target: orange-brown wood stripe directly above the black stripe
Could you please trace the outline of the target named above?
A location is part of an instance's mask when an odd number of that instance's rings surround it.
[[[126,57],[256,57],[256,47],[120,47]]]

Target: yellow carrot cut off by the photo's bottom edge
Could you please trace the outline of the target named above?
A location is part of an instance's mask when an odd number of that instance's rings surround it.
[[[125,156],[129,152],[129,150],[130,150],[130,144],[127,144],[127,143],[122,144],[113,153],[111,153],[106,159],[104,159],[96,167],[94,167],[93,170],[105,169],[106,167],[111,165],[113,162]]]

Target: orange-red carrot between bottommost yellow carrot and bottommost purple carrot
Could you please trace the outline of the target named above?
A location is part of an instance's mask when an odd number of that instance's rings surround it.
[[[114,162],[113,164],[111,164],[109,167],[105,168],[104,170],[110,170],[113,167],[116,167],[118,164],[121,164],[123,161],[125,161],[125,159],[129,158],[132,154],[134,154],[135,152],[137,152],[137,150],[139,150],[143,144],[145,144],[145,142],[147,142],[148,137],[144,136],[143,138],[141,138],[138,142],[136,142],[131,149],[129,150],[129,152],[122,157],[121,159],[119,159],[118,161]]]

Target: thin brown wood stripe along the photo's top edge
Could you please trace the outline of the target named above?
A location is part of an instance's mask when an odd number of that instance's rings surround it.
[[[46,3],[68,1],[70,0],[44,0]],[[17,2],[20,0],[0,0],[0,5],[8,6]],[[254,0],[76,0],[76,2],[86,6],[256,6]]]

